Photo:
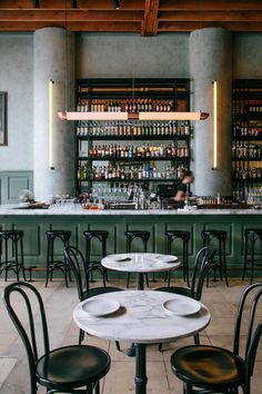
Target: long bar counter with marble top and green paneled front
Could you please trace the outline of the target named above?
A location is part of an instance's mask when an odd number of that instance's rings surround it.
[[[84,210],[80,207],[30,209],[13,205],[0,206],[0,219],[3,229],[17,228],[24,232],[26,266],[38,268],[46,266],[46,232],[52,228],[71,230],[70,244],[80,247],[81,250],[84,250],[82,233],[85,229],[107,229],[109,230],[108,254],[125,252],[124,232],[128,229],[150,230],[148,252],[153,253],[165,252],[165,230],[188,230],[191,233],[189,246],[191,266],[195,253],[202,247],[201,230],[223,229],[228,234],[229,276],[240,276],[244,258],[244,229],[262,228],[262,209]],[[134,247],[135,252],[142,252],[139,239],[134,240]],[[99,250],[99,244],[94,243],[92,255],[95,257]],[[178,256],[182,254],[180,245],[173,253]],[[58,250],[58,255],[61,255],[61,250]]]

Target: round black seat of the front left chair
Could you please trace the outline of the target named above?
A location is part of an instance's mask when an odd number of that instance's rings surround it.
[[[37,364],[39,383],[69,390],[98,382],[110,368],[110,357],[94,346],[66,346],[42,356]]]

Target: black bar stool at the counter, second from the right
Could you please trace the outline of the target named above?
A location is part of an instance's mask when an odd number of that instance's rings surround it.
[[[219,243],[218,257],[219,262],[214,262],[213,269],[214,269],[214,280],[215,280],[215,270],[219,268],[220,272],[220,279],[223,279],[223,274],[225,278],[225,284],[229,286],[228,282],[228,272],[226,272],[226,260],[225,260],[225,239],[226,239],[226,232],[225,230],[202,230],[201,236],[203,238],[203,246],[210,246],[211,243],[216,240]]]

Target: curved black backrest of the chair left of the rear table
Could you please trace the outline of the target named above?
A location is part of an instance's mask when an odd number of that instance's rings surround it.
[[[68,246],[64,249],[64,257],[73,273],[78,287],[79,301],[85,298],[84,293],[89,292],[89,267],[85,259],[77,247]]]

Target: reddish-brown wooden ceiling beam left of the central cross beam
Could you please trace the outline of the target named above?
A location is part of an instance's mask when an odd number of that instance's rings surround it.
[[[27,10],[27,11],[4,11],[0,12],[0,21],[135,21],[143,19],[143,11],[47,11],[47,10]]]

